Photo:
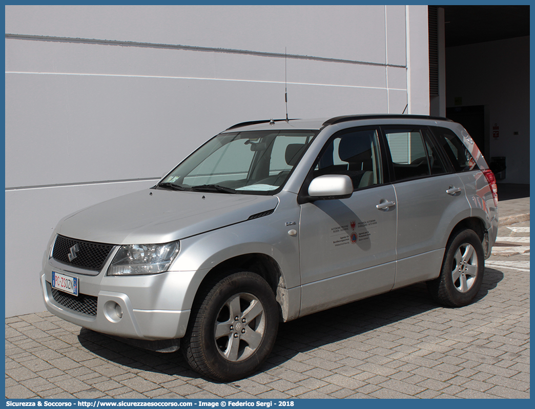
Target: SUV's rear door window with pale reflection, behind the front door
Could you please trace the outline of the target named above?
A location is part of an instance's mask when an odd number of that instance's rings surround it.
[[[395,181],[447,172],[427,130],[385,127],[383,131],[392,158]]]

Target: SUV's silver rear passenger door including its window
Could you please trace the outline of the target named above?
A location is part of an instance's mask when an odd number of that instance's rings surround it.
[[[394,288],[439,275],[445,241],[470,216],[461,179],[425,126],[383,126],[398,206]]]

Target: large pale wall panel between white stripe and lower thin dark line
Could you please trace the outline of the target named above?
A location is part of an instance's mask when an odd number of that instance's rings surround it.
[[[157,177],[234,123],[285,117],[284,84],[27,74],[9,79],[6,134],[17,138],[5,143],[7,187]],[[386,99],[376,97],[385,89],[333,88],[289,84],[289,113],[386,110]]]

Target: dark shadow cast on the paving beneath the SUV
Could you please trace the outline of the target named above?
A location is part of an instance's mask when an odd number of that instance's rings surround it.
[[[485,298],[502,279],[503,272],[486,268],[475,302]],[[420,283],[281,323],[273,352],[259,372],[277,367],[299,353],[441,308],[445,307],[437,305],[427,293],[425,283]],[[203,378],[189,368],[180,352],[159,353],[139,349],[85,328],[80,330],[78,339],[88,351],[119,365],[180,376],[185,380]]]

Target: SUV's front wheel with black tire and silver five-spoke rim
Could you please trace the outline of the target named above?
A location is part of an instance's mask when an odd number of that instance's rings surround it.
[[[261,276],[247,271],[220,275],[194,302],[182,353],[202,375],[225,382],[241,379],[268,358],[278,318],[273,290]]]

